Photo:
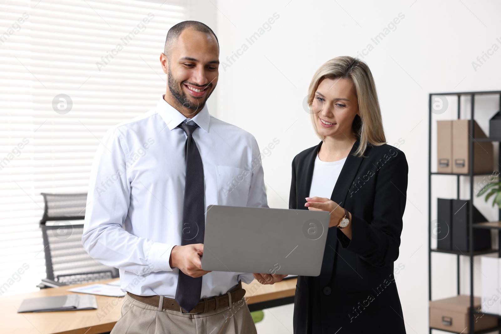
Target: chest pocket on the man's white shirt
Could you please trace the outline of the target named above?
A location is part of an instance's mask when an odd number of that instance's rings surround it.
[[[250,171],[230,166],[216,166],[219,205],[246,206],[250,189]]]

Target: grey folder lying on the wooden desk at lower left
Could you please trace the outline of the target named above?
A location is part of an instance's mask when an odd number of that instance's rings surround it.
[[[80,309],[97,309],[96,297],[91,294],[67,294],[62,296],[29,298],[23,300],[21,306],[19,306],[18,313],[75,311]]]

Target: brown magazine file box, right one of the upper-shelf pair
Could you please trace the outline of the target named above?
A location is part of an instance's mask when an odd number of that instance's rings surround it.
[[[469,173],[470,120],[452,121],[452,173]],[[478,124],[473,121],[473,138],[487,138]],[[492,173],[493,155],[491,142],[473,142],[473,172]]]

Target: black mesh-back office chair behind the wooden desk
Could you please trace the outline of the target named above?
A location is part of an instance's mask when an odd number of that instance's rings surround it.
[[[87,194],[47,194],[40,227],[44,238],[47,278],[40,288],[69,284],[89,283],[117,278],[117,268],[106,266],[93,259],[82,245],[83,224],[71,220],[85,218]],[[52,225],[46,222],[54,221]]]

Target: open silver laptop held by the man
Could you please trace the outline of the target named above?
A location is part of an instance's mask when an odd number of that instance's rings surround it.
[[[209,205],[202,269],[318,276],[327,211]]]

